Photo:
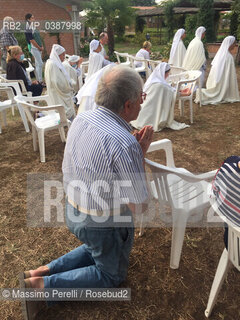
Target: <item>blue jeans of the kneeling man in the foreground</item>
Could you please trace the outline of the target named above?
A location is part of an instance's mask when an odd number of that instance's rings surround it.
[[[84,221],[72,221],[70,210]],[[127,214],[131,216],[131,211]],[[108,221],[99,227],[90,215],[79,212],[69,203],[66,203],[66,222],[84,244],[47,265],[50,275],[43,278],[44,287],[110,288],[123,282],[133,245],[133,224],[114,227],[112,221]]]

